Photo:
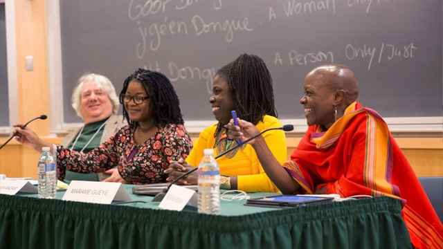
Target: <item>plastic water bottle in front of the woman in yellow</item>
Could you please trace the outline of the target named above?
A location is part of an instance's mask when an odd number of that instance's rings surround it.
[[[220,169],[214,149],[204,149],[199,164],[199,213],[220,213]]]

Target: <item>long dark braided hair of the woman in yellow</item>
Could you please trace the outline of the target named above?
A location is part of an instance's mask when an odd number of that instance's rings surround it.
[[[228,82],[237,117],[256,125],[265,115],[278,118],[275,110],[272,77],[263,59],[243,54],[220,68],[215,75]],[[217,133],[224,124],[217,124]]]

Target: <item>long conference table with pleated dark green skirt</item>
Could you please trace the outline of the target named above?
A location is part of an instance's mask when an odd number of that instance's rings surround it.
[[[389,197],[285,209],[221,200],[215,216],[162,210],[124,186],[131,203],[0,194],[0,248],[410,248],[401,204]]]

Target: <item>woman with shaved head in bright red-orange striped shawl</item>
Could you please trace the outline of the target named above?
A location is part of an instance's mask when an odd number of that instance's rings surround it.
[[[379,114],[356,101],[359,83],[350,68],[328,64],[307,74],[300,99],[309,125],[291,160],[276,160],[259,137],[251,140],[269,178],[284,194],[390,196],[400,199],[414,248],[442,248],[443,226],[408,160]],[[258,129],[230,120],[229,138]]]

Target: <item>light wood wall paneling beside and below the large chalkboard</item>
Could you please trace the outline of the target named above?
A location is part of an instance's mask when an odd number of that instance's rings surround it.
[[[48,57],[44,0],[15,0],[17,39],[17,100],[19,122],[49,113]],[[33,55],[34,70],[26,71],[25,56]],[[48,138],[49,121],[29,125],[39,136],[60,143],[62,138]],[[192,134],[195,140],[198,134]],[[7,138],[0,138],[0,143]],[[443,176],[442,138],[396,138],[417,176]],[[288,156],[300,138],[287,138]],[[39,154],[12,141],[0,151],[0,174],[8,177],[37,177]]]

